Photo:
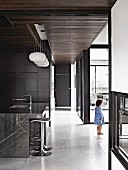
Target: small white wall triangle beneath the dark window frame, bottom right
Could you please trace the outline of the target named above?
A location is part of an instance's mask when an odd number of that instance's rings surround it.
[[[119,162],[119,160],[115,157],[113,153],[111,153],[112,156],[112,170],[125,170],[125,168],[122,166],[122,164]]]

